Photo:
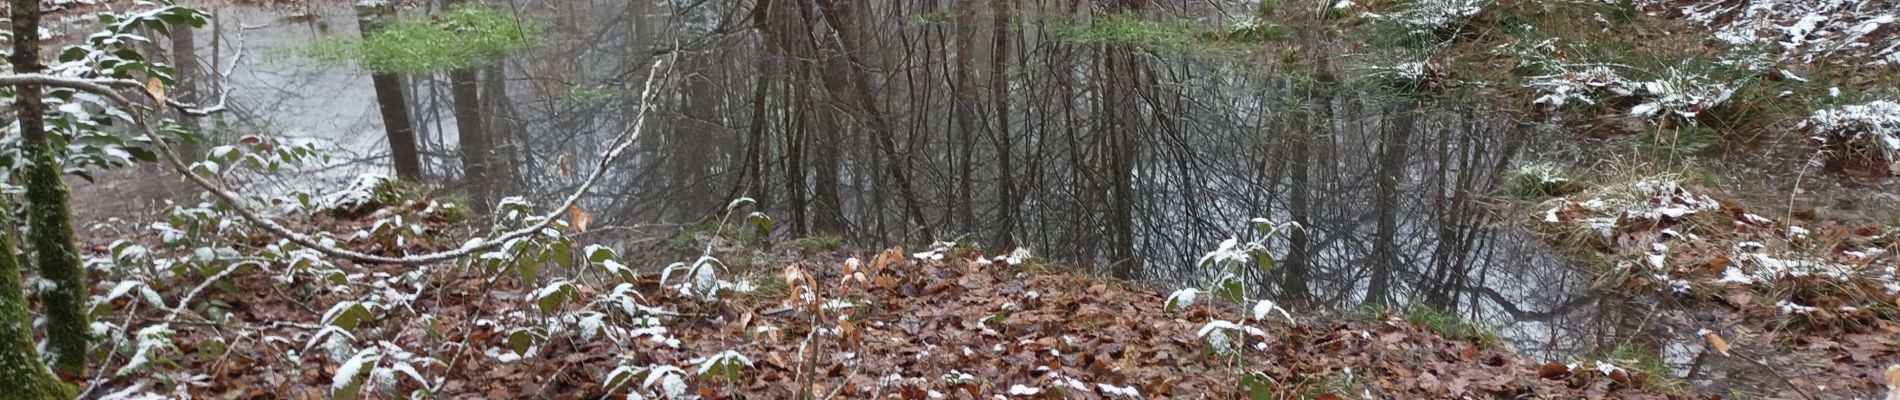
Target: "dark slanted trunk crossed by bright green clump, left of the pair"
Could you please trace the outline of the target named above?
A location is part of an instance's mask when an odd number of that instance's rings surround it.
[[[357,4],[357,23],[363,38],[382,30],[384,19],[395,9],[390,4]],[[403,78],[388,72],[370,72],[370,85],[376,87],[376,110],[382,112],[382,129],[390,136],[390,157],[395,176],[408,182],[422,182],[422,155],[416,152],[416,127],[408,119],[408,100],[403,99]]]

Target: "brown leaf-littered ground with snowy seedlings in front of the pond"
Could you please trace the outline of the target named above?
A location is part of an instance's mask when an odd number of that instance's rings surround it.
[[[370,224],[327,216],[298,222],[329,231]],[[443,222],[429,229],[456,231]],[[95,256],[122,246],[101,235],[87,241]],[[376,241],[350,245],[388,250]],[[154,246],[162,254],[190,250]],[[1644,372],[1613,362],[1547,364],[1495,341],[1446,339],[1398,313],[1294,322],[1302,315],[1269,313],[1271,303],[1170,300],[1129,282],[1039,267],[1020,254],[982,258],[971,248],[775,254],[749,271],[732,271],[735,281],[756,286],[718,300],[661,284],[654,273],[627,275],[636,296],[616,298],[627,294],[618,288],[621,279],[547,269],[543,281],[572,282],[570,298],[553,305],[536,301],[536,286],[484,279],[479,269],[338,264],[357,282],[435,275],[412,288],[372,284],[414,294],[401,294],[408,298],[401,307],[369,309],[344,334],[382,349],[384,360],[370,362],[376,368],[369,381],[388,387],[369,391],[370,398],[424,383],[439,398],[665,394],[674,383],[705,398],[796,398],[800,391],[817,398],[1664,398]],[[312,282],[264,269],[228,281],[203,294],[205,305],[184,318],[196,322],[169,324],[179,347],[165,360],[175,366],[104,379],[97,392],[331,398],[346,387],[340,383],[348,379],[338,377],[353,375],[359,366],[346,364],[363,353],[327,351],[338,336],[329,328],[340,322],[334,309],[312,305],[350,303],[359,292],[314,290]],[[133,311],[122,313],[135,317],[118,324],[167,320],[163,309],[141,311],[139,296],[108,294],[125,292],[118,284],[97,292],[112,307]],[[585,320],[587,309],[621,300],[665,309],[665,320],[618,330],[612,326],[619,318],[597,318],[608,328],[566,324],[570,330],[540,332],[532,345],[517,343],[519,330],[502,328],[505,315]],[[749,366],[692,373],[722,351],[741,355]],[[437,362],[391,364],[422,358]],[[95,370],[110,372],[114,360]],[[667,375],[663,366],[680,370]]]

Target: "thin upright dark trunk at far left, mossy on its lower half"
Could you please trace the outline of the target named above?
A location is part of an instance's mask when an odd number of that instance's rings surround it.
[[[40,72],[40,2],[13,0],[13,70]],[[30,241],[40,264],[40,277],[53,286],[40,294],[46,305],[46,351],[53,356],[53,368],[63,375],[86,372],[86,345],[91,341],[91,318],[86,313],[87,284],[86,267],[80,264],[80,246],[72,239],[72,193],[61,180],[59,154],[46,136],[46,104],[40,102],[42,87],[21,85],[15,95],[19,114],[21,146],[28,161],[27,180],[27,220],[32,224]],[[8,254],[11,256],[11,254]]]

